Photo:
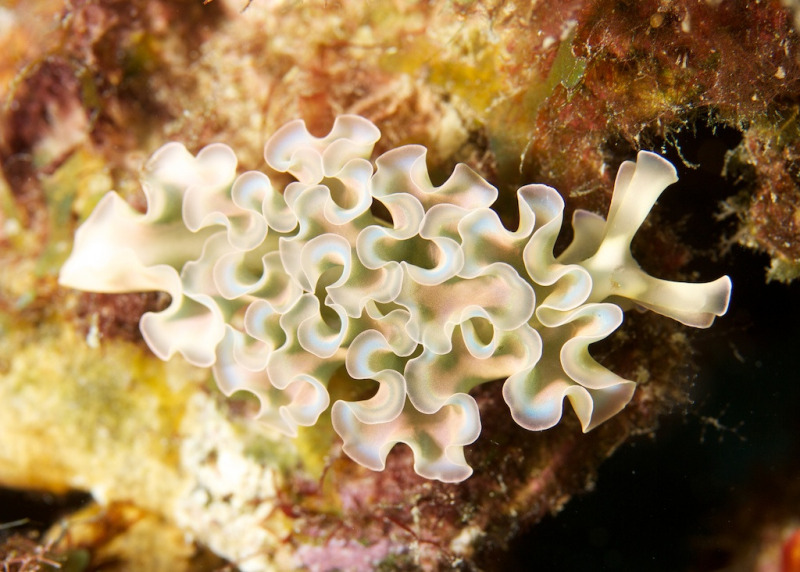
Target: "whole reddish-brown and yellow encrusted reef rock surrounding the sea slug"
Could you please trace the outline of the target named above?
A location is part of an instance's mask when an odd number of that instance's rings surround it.
[[[243,567],[325,569],[346,554],[362,568],[469,568],[687,403],[686,331],[632,314],[593,348],[639,384],[622,414],[587,435],[568,418],[532,439],[493,415],[499,384],[481,386],[475,476],[460,485],[417,477],[401,448],[382,473],[355,465],[325,415],[296,441],[264,435],[248,421],[254,403],[222,406],[204,371],[149,355],[132,325],[168,301],[56,285],[77,222],[109,188],[142,208],[138,171],[169,140],[193,152],[225,141],[243,169],[259,168],[285,121],[322,134],[358,113],[380,126],[378,152],[428,147],[434,180],[458,161],[480,172],[513,227],[522,184],[568,193],[567,216],[602,213],[639,148],[698,122],[729,126],[743,135],[728,166],[742,182],[728,199],[733,238],[774,257],[776,277],[794,276],[798,40],[780,2],[26,6],[0,8],[0,483],[133,500]],[[689,211],[705,189],[687,196]],[[653,274],[681,279],[699,260],[671,225],[640,234],[634,253]]]

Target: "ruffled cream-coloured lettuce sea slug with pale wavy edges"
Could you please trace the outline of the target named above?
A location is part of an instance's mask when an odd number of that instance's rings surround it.
[[[144,167],[147,212],[109,192],[78,229],[60,282],[169,293],[169,307],[141,318],[152,351],[212,367],[227,395],[254,393],[259,418],[287,435],[330,406],[338,369],[373,380],[370,398],[332,405],[344,451],[381,470],[406,443],[417,473],[446,482],[472,473],[475,386],[505,378],[514,420],[537,431],[559,422],[567,398],[589,431],[634,391],[588,350],[623,310],[695,327],[725,313],[727,276],[659,280],[631,255],[677,180],[665,159],[642,151],[623,163],[608,219],[576,211],[574,239],[556,257],[564,202],[554,189],[519,189],[519,227],[508,230],[490,208],[497,190],[468,167],[434,187],[424,147],[370,162],[379,137],[353,115],[322,138],[302,121],[285,125],[264,151],[294,178],[285,189],[258,171],[237,175],[226,145],[193,156],[169,143]],[[376,202],[391,220],[373,214]]]

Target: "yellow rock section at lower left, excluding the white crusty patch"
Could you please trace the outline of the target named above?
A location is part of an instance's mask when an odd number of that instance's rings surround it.
[[[0,360],[2,484],[86,489],[152,510],[185,486],[170,437],[204,372],[131,344],[92,349],[57,325],[7,331]]]

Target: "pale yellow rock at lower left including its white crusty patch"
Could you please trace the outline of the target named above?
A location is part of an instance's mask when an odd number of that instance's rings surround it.
[[[181,542],[195,539],[244,570],[294,567],[275,511],[281,467],[296,463],[292,441],[232,421],[205,370],[130,343],[92,345],[56,323],[6,330],[0,485],[90,491],[101,507],[129,503],[172,523],[169,542],[180,530]],[[132,530],[119,542],[145,545],[148,535]],[[151,564],[139,569],[170,569]]]

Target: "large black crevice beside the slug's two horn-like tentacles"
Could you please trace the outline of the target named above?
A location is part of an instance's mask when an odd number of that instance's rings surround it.
[[[765,284],[767,257],[742,247],[714,256],[736,222],[714,215],[741,191],[742,179],[721,176],[739,140],[734,129],[700,123],[664,146],[680,183],[662,195],[656,220],[676,225],[702,279],[728,274],[733,282],[728,314],[693,337],[693,403],[662,418],[652,438],[617,451],[592,492],[520,536],[497,569],[753,569],[767,515],[800,505],[792,478],[800,459],[792,359],[800,285]]]

